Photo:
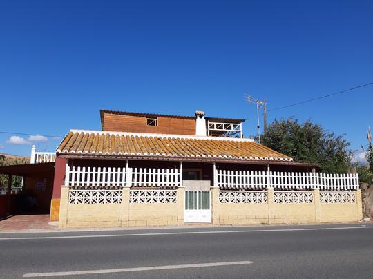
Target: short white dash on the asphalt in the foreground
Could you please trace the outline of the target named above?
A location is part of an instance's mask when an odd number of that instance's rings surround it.
[[[242,262],[209,262],[201,264],[175,264],[175,265],[160,265],[157,267],[130,267],[125,269],[97,269],[84,271],[64,271],[64,272],[43,272],[43,273],[26,273],[22,277],[46,277],[46,276],[72,276],[86,274],[102,274],[102,273],[119,273],[132,271],[154,271],[164,269],[191,269],[195,267],[222,267],[227,265],[252,264],[248,260]]]

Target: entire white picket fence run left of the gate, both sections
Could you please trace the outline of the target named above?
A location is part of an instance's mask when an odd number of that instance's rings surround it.
[[[126,167],[66,166],[66,186],[94,187],[155,187],[181,186],[180,169],[133,169]]]

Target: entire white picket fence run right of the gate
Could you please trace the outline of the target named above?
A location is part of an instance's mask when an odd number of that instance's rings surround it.
[[[216,186],[220,189],[280,190],[356,190],[358,175],[329,173],[294,173],[272,171],[216,170]]]

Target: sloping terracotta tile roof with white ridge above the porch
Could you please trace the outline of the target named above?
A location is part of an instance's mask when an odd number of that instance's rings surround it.
[[[292,161],[251,139],[71,130],[57,153],[134,157]]]

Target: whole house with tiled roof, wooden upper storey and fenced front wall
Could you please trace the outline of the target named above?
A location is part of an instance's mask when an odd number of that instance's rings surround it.
[[[71,130],[55,154],[59,227],[353,222],[356,174],[245,138],[245,119],[101,111],[102,131]]]

